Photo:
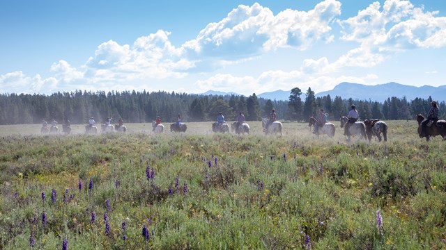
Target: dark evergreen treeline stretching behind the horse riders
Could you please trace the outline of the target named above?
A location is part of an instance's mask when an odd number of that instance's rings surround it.
[[[304,96],[302,98],[302,96]],[[247,121],[259,121],[275,108],[277,119],[307,122],[322,108],[329,114],[330,121],[337,121],[347,115],[355,104],[360,119],[415,119],[415,115],[426,115],[431,108],[431,97],[415,98],[389,97],[383,103],[371,100],[341,99],[330,95],[315,97],[311,88],[302,93],[293,88],[288,101],[277,101],[242,95],[203,95],[176,92],[96,91],[57,92],[45,94],[0,94],[0,125],[39,124],[55,119],[59,124],[70,120],[71,124],[87,124],[90,117],[104,123],[112,117],[114,123],[122,118],[124,123],[147,123],[160,116],[162,122],[176,122],[181,115],[183,122],[215,121],[222,112],[226,121],[236,120],[243,112]],[[440,117],[446,116],[445,101],[439,103]]]

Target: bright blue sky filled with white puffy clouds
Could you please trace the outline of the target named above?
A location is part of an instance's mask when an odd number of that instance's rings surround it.
[[[0,34],[0,93],[446,85],[444,1],[0,1]]]

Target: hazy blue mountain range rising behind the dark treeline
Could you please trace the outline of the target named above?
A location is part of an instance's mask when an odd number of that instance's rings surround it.
[[[305,92],[307,90],[302,90],[302,99],[305,99]],[[237,94],[228,92],[215,92],[209,90],[203,94]],[[291,90],[275,90],[273,92],[265,92],[257,94],[257,97],[264,99],[271,99],[277,101],[288,101],[291,94]],[[446,85],[439,87],[433,87],[429,85],[424,85],[422,87],[415,87],[410,85],[403,85],[400,83],[384,83],[378,85],[363,85],[359,83],[339,83],[332,90],[318,92],[316,97],[324,97],[330,94],[330,97],[339,96],[342,99],[353,99],[353,100],[371,100],[383,102],[389,97],[406,97],[408,101],[419,97],[422,99],[428,99],[429,96],[436,101],[446,101]]]

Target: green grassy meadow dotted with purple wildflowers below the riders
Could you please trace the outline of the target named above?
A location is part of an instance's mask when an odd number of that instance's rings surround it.
[[[346,142],[333,123],[333,139],[293,122],[282,136],[0,126],[0,249],[444,249],[445,142],[415,121]]]

